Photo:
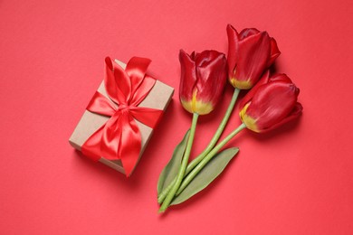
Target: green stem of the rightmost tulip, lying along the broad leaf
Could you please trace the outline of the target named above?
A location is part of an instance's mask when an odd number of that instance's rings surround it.
[[[237,127],[231,134],[226,136],[224,138],[224,140],[221,141],[221,143],[219,143],[217,146],[215,146],[215,148],[212,149],[212,151],[208,155],[206,155],[205,158],[199,164],[196,165],[194,170],[190,174],[187,174],[183,183],[180,185],[179,189],[177,190],[176,195],[183,192],[183,190],[186,188],[186,186],[195,178],[196,174],[198,174],[202,170],[202,168],[205,167],[205,165],[217,154],[217,152],[223,146],[225,146],[225,144],[227,144],[236,134],[238,134],[245,127],[246,126],[242,123],[242,125]]]

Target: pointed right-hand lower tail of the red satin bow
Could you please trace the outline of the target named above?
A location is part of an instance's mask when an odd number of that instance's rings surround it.
[[[141,134],[138,124],[130,115],[123,115],[119,155],[127,177],[132,173],[141,152]]]

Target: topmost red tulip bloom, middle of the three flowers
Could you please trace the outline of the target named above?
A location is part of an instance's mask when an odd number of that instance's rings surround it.
[[[267,32],[243,29],[237,33],[231,24],[228,34],[228,76],[237,89],[251,89],[281,52]]]

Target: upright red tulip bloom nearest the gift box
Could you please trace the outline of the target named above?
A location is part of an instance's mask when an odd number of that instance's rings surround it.
[[[205,115],[221,98],[226,82],[226,59],[216,51],[179,53],[181,79],[179,97],[190,113]]]

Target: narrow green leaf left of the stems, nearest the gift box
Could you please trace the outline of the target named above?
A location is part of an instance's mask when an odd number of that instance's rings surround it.
[[[190,129],[187,130],[186,135],[183,140],[176,146],[174,149],[174,153],[166,167],[163,169],[161,174],[159,175],[158,183],[157,183],[157,193],[158,196],[163,190],[171,183],[175,178],[176,174],[179,171],[181,160],[183,159],[183,155],[186,149],[187,139],[190,135]]]

